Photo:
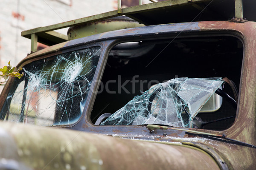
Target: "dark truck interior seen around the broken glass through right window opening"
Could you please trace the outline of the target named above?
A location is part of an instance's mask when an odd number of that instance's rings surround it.
[[[239,38],[227,35],[120,43],[109,53],[91,121],[96,123],[100,115],[110,113],[100,118],[104,121],[152,85],[177,77],[227,77],[239,89],[243,49]],[[224,83],[220,88],[235,99],[229,84]],[[212,102],[209,99],[205,105],[213,105],[213,108],[203,107],[196,119],[210,122],[204,129],[227,129],[235,120],[236,107],[227,98],[218,94],[212,96],[215,96],[214,102],[209,104]]]

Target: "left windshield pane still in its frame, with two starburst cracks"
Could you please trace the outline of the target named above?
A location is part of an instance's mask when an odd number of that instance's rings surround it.
[[[100,53],[100,47],[86,48],[25,65],[24,76],[14,80],[1,119],[41,126],[75,123]]]

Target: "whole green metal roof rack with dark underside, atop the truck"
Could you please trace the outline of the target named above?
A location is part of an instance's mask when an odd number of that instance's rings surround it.
[[[118,0],[118,9],[115,11],[109,11],[90,17],[67,21],[64,23],[22,31],[21,36],[31,39],[31,52],[34,52],[37,51],[37,42],[41,42],[45,45],[55,45],[68,41],[67,35],[58,33],[55,30],[77,26],[84,23],[93,23],[99,20],[122,15],[130,17],[145,25],[192,22],[196,17],[198,17],[198,13],[201,13],[202,11],[204,11],[205,14],[203,17],[200,16],[197,21],[231,19],[230,16],[220,15],[214,11],[214,7],[216,4],[218,5],[221,0],[166,0],[161,2],[156,2],[155,0],[150,1],[154,3],[141,5],[142,0],[139,0],[140,5],[138,6],[121,8],[121,0]],[[233,2],[236,8],[235,10],[232,8],[231,12],[229,13],[233,12],[232,14],[235,14],[236,18],[243,18],[242,0],[230,0],[230,2]],[[205,10],[205,7],[209,6],[209,3],[213,4],[211,8],[212,11],[207,9]]]

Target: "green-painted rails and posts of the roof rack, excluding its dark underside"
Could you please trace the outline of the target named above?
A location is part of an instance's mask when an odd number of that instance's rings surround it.
[[[145,23],[145,21],[136,18],[133,14],[140,14],[145,11],[156,11],[163,9],[171,9],[176,6],[192,5],[197,6],[197,3],[209,2],[210,0],[166,0],[157,3],[143,4],[139,6],[132,6],[127,8],[121,8],[121,0],[118,0],[118,9],[115,11],[109,11],[102,14],[96,14],[89,17],[84,17],[76,20],[70,20],[63,23],[58,23],[50,26],[38,27],[21,32],[21,36],[31,39],[31,52],[37,51],[37,42],[41,42],[45,45],[55,45],[61,42],[67,41],[67,36],[56,32],[55,30],[61,28],[67,28],[72,26],[77,26],[84,23],[93,23],[95,21],[108,19],[111,17],[117,17],[126,15],[140,23]],[[243,17],[242,10],[242,0],[235,0],[235,13],[236,18]]]

